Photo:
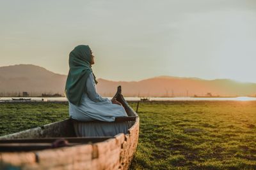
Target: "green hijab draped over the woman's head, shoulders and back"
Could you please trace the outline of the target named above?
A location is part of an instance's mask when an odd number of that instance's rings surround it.
[[[69,54],[69,71],[65,94],[68,101],[76,106],[79,106],[82,95],[86,92],[86,81],[92,73],[91,60],[92,53],[88,45],[78,45]],[[95,82],[97,83],[96,80]]]

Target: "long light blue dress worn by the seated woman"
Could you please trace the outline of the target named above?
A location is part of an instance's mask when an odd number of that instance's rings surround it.
[[[113,122],[116,117],[127,117],[124,108],[118,104],[112,104],[108,98],[102,98],[96,89],[96,84],[91,73],[86,81],[81,104],[76,106],[68,101],[69,115],[79,121],[101,120]]]

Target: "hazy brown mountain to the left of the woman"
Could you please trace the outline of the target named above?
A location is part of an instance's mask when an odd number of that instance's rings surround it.
[[[28,92],[33,96],[42,93],[64,94],[66,75],[52,73],[32,64],[0,67],[0,94]]]

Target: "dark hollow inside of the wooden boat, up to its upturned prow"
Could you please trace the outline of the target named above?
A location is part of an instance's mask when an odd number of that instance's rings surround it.
[[[124,106],[128,117],[117,117],[115,122],[101,122],[98,120],[80,122],[68,118],[61,122],[0,136],[0,152],[24,152],[97,143],[114,138],[116,134],[127,134],[132,125],[138,121],[138,115],[125,101],[120,86],[113,99]]]

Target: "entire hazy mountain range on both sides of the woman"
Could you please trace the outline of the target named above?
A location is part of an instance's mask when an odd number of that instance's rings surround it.
[[[42,93],[64,95],[67,75],[56,74],[44,67],[32,64],[0,67],[0,96],[28,92],[38,96]],[[255,96],[256,83],[239,83],[228,79],[202,80],[159,76],[141,81],[109,81],[98,79],[97,90],[102,96],[113,96],[116,87],[122,85],[124,96],[171,97],[171,96]]]

